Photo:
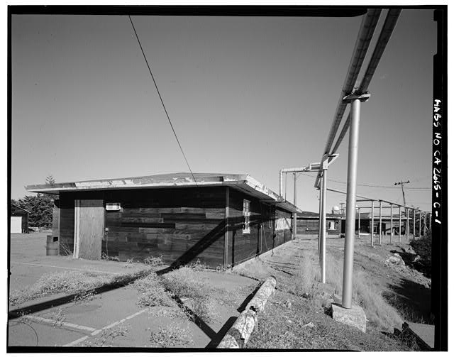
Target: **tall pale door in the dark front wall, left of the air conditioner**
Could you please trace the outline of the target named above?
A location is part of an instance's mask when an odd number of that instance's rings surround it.
[[[103,200],[76,199],[74,202],[74,258],[100,259],[103,236]]]

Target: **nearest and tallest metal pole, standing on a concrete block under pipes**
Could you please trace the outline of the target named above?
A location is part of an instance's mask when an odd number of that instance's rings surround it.
[[[353,252],[355,250],[356,177],[358,173],[358,141],[360,136],[360,100],[350,104],[351,123],[348,141],[347,216],[345,218],[345,243],[343,258],[342,306],[352,307]]]

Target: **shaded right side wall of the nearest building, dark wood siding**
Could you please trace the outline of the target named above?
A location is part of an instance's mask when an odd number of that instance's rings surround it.
[[[250,233],[243,233],[243,199],[250,201]],[[230,190],[229,201],[228,264],[237,265],[292,239],[290,229],[275,230],[275,216],[290,220],[289,212],[262,204],[236,190]]]

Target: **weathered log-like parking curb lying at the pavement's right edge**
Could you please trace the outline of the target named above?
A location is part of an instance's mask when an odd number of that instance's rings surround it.
[[[244,348],[257,322],[257,315],[265,309],[268,298],[275,292],[276,278],[270,276],[260,286],[245,310],[240,314],[217,348]]]

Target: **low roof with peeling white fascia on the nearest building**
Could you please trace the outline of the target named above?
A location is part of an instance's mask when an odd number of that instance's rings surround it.
[[[194,181],[195,177],[195,181]],[[275,205],[289,212],[301,210],[288,202],[284,197],[273,192],[262,183],[247,174],[194,173],[177,172],[171,174],[140,177],[109,178],[78,182],[61,182],[54,184],[28,185],[29,192],[60,194],[60,192],[157,189],[173,187],[232,187],[240,192],[256,197],[260,202]]]

